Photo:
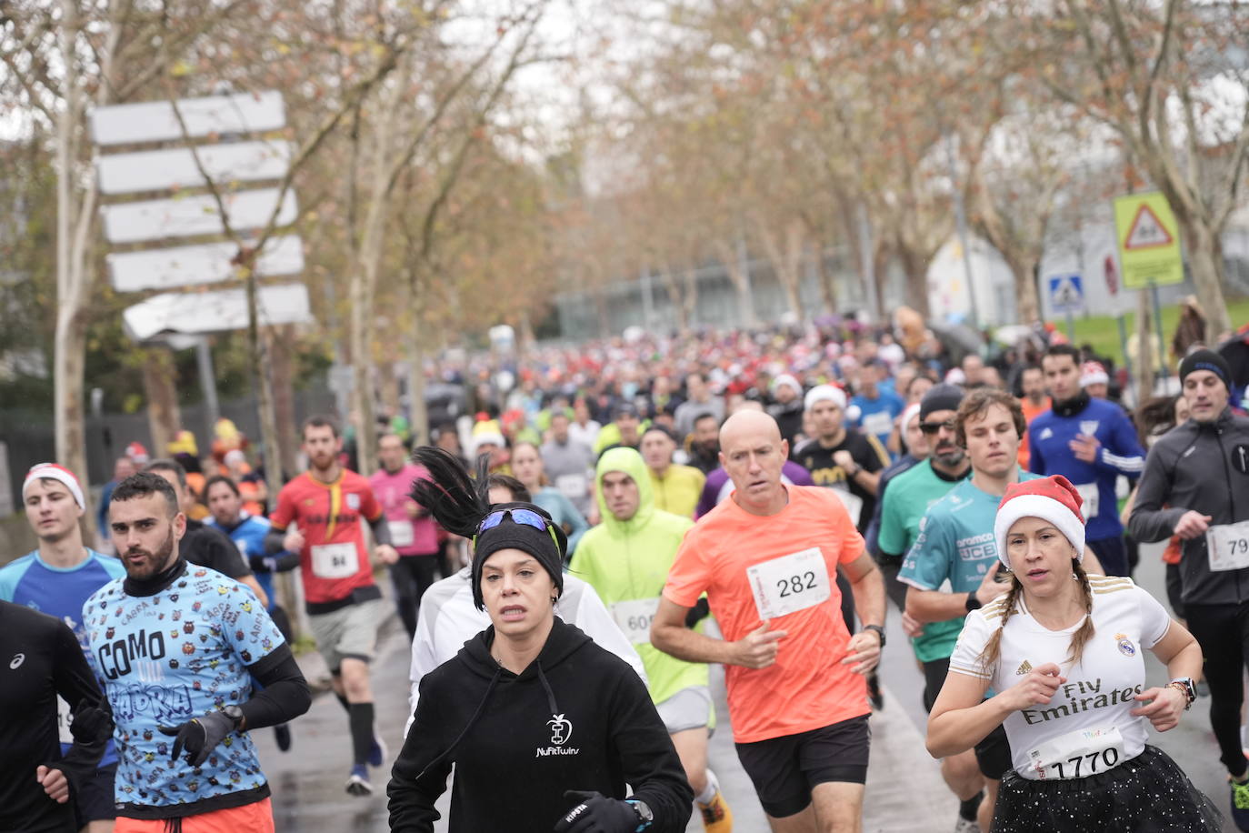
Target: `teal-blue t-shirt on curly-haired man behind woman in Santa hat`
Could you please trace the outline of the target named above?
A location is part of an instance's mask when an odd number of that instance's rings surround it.
[[[1038,475],[1019,472],[1020,481],[1038,480]],[[918,589],[940,589],[949,582],[949,592],[970,593],[984,581],[984,574],[998,561],[998,545],[993,540],[993,521],[998,516],[1000,495],[980,491],[968,477],[928,507],[919,522],[919,537],[912,545],[898,581]],[[954,652],[962,631],[962,616],[949,619],[959,627],[934,632],[927,653],[948,657]],[[918,637],[922,639],[923,637]]]

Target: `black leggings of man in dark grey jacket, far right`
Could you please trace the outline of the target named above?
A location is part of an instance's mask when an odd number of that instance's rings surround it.
[[[1239,778],[1249,768],[1240,749],[1242,682],[1249,657],[1249,602],[1240,604],[1187,604],[1188,629],[1205,656],[1205,682],[1210,687],[1210,728],[1219,742],[1219,761]]]

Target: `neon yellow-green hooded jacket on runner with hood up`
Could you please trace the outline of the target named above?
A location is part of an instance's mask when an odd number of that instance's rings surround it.
[[[624,472],[637,483],[641,498],[628,521],[617,521],[603,500],[603,476]],[[590,582],[611,611],[616,624],[637,648],[651,681],[651,699],[661,703],[683,688],[706,686],[707,666],[684,662],[651,646],[651,619],[677,548],[693,526],[689,518],[654,508],[651,472],[632,448],[610,448],[595,471],[602,523],[577,545],[571,572]]]

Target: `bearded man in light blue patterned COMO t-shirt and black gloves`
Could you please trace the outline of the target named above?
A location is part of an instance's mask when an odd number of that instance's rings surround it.
[[[186,516],[164,477],[119,483],[109,523],[126,577],[82,618],[116,721],[116,833],[272,832],[247,731],[311,704],[291,649],[245,584],[181,555]]]

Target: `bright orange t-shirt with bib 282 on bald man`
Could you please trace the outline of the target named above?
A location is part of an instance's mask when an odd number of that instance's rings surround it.
[[[809,732],[871,711],[867,679],[841,664],[851,636],[837,589],[837,564],[863,555],[863,537],[831,490],[788,491],[789,503],[768,517],[746,512],[732,498],[704,515],[686,533],[663,588],[682,607],[693,607],[706,592],[729,642],[761,624],[759,604],[792,611],[769,619],[772,629],[787,634],[776,663],[724,666],[738,743]]]

